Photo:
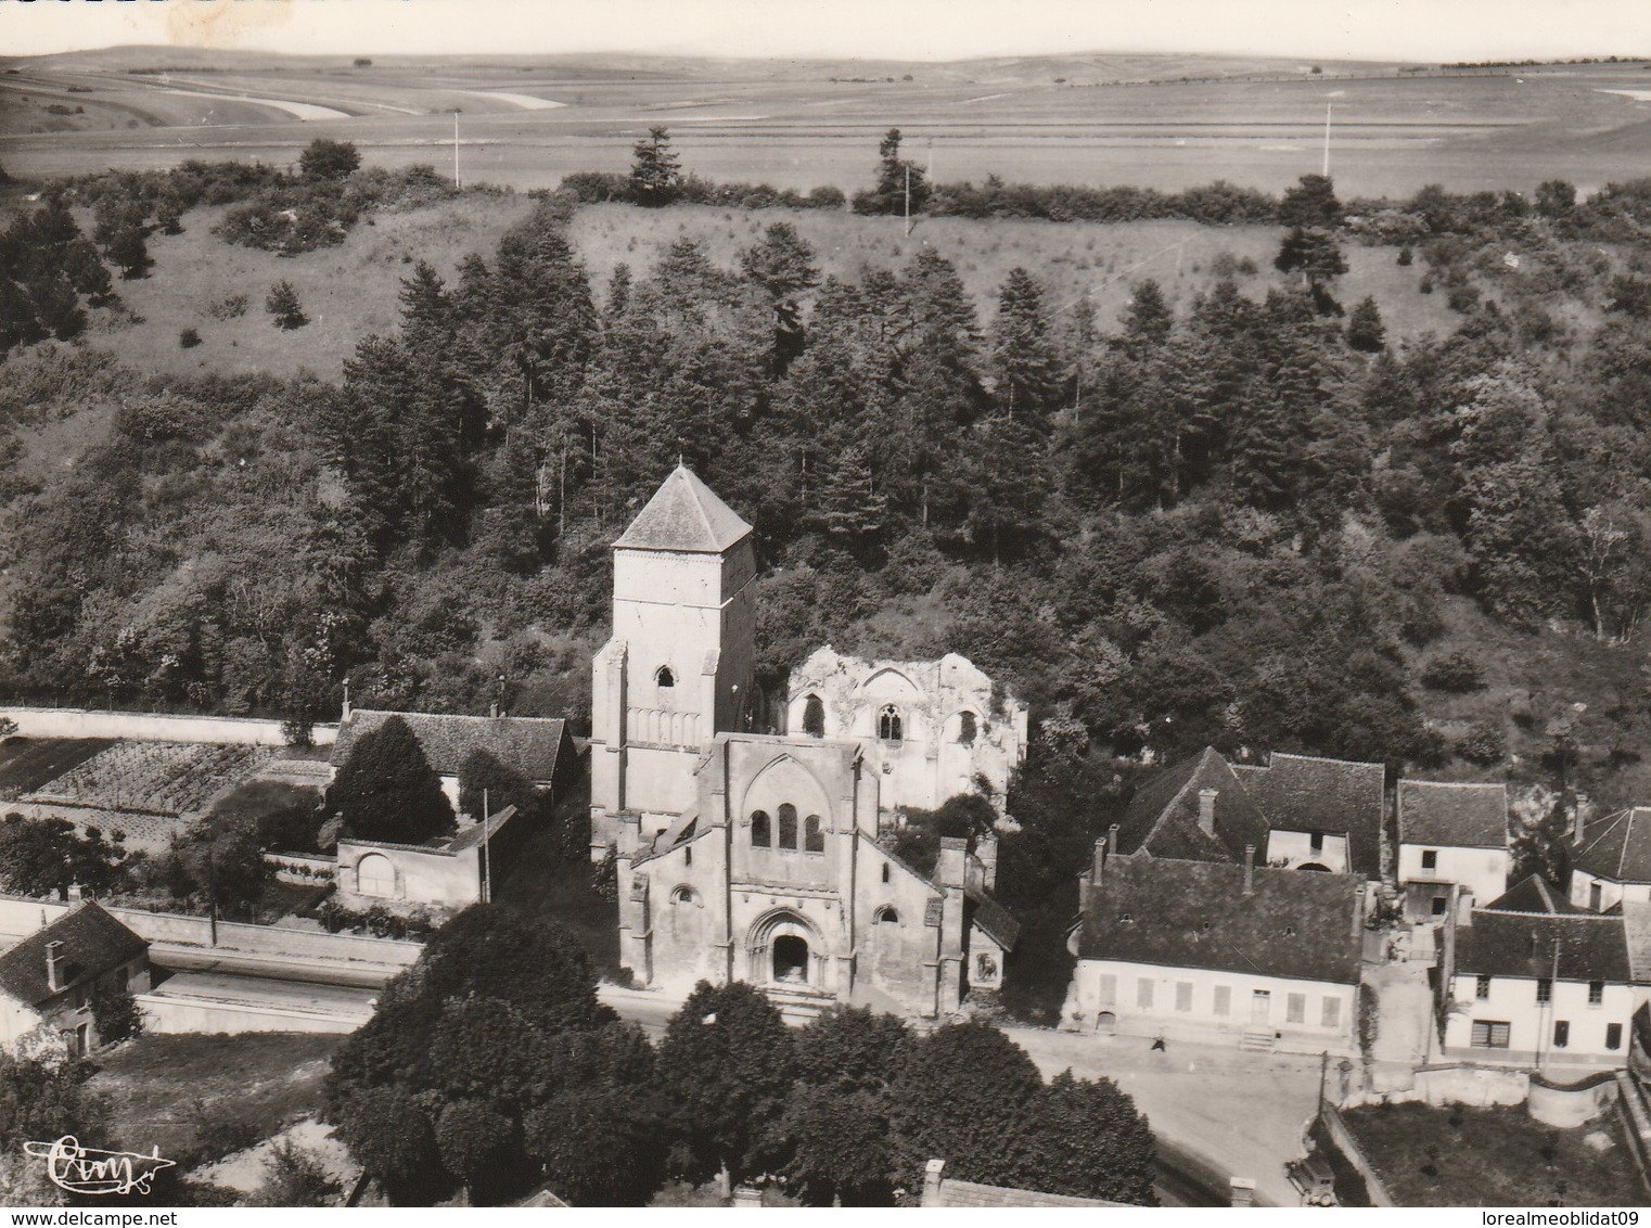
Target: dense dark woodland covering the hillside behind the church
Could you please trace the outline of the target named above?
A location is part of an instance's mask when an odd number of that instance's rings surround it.
[[[829,642],[961,652],[1032,705],[1001,891],[1047,923],[1029,949],[1050,959],[1131,763],[1215,744],[1560,787],[1593,743],[1600,796],[1636,758],[1636,664],[1605,670],[1585,718],[1539,697],[1446,736],[1428,708],[1483,685],[1471,645],[1445,640],[1464,602],[1605,652],[1639,634],[1648,182],[1588,200],[1550,182],[1342,203],[1319,177],[1276,200],[1180,193],[1167,216],[1278,223],[1278,276],[1233,267],[1177,310],[1141,282],[1114,320],[1024,269],[982,319],[918,244],[822,277],[788,221],[733,267],[682,241],[649,276],[593,286],[563,233],[570,191],[451,276],[409,267],[401,327],[338,383],[144,378],[23,345],[73,335],[114,292],[69,205],[150,201],[139,226],[173,198],[183,223],[188,200],[304,218],[299,198],[365,210],[424,182],[322,154],[296,180],[102,177],[13,221],[0,294],[45,314],[7,335],[21,348],[0,386],[7,690],[305,721],[348,682],[360,705],[581,720],[608,546],[680,457],[756,527],[771,697]],[[898,154],[890,134],[859,211],[905,208]],[[665,137],[639,168],[637,208],[680,198]],[[921,206],[976,215],[1171,200],[916,185]],[[104,239],[117,262],[114,223]],[[1337,300],[1355,243],[1448,295],[1459,327],[1388,345],[1372,300]],[[88,406],[107,406],[102,442],[31,464],[31,432]]]

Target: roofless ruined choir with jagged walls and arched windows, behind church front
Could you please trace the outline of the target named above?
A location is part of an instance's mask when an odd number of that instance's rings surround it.
[[[1027,706],[954,652],[901,662],[816,649],[791,672],[786,728],[855,739],[883,777],[885,809],[933,810],[984,782],[1002,814],[1027,754]]]

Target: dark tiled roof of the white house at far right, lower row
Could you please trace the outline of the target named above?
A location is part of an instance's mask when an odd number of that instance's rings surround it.
[[[1486,977],[1557,975],[1560,980],[1616,984],[1633,979],[1621,916],[1542,916],[1486,908],[1473,909],[1473,924],[1456,929],[1456,971]]]

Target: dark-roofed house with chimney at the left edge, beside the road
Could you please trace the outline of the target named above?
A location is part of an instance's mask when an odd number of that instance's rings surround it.
[[[28,1033],[56,1032],[69,1056],[97,1048],[92,997],[149,990],[149,942],[96,901],[0,952],[0,1048],[15,1053]]]

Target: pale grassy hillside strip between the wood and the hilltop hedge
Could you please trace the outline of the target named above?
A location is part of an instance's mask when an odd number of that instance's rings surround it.
[[[396,295],[414,261],[429,261],[451,281],[466,254],[492,256],[504,231],[530,208],[520,196],[466,196],[381,213],[375,224],[358,224],[340,246],[294,257],[229,246],[211,234],[220,211],[196,210],[185,216],[183,234],[152,236],[150,276],[116,284],[125,310],[92,312],[89,340],[147,373],[307,370],[335,380],[362,337],[396,327]],[[1142,277],[1156,277],[1171,302],[1185,309],[1215,282],[1217,257],[1248,259],[1258,269],[1240,276],[1253,297],[1284,281],[1271,267],[1280,238],[1273,226],[936,218],[920,220],[906,236],[893,218],[822,210],[591,205],[575,216],[570,238],[601,297],[616,264],[624,261],[642,276],[682,238],[702,243],[713,262],[738,267],[740,251],[774,221],[792,223],[826,272],[852,281],[867,266],[900,266],[920,248],[934,248],[958,266],[982,322],[996,310],[997,290],[1015,266],[1043,282],[1052,312],[1070,310],[1088,292],[1103,328],[1113,327],[1131,286]],[[1346,256],[1351,271],[1336,294],[1347,307],[1374,295],[1393,340],[1448,332],[1459,322],[1443,294],[1417,290],[1423,269],[1397,267],[1390,248],[1349,246]],[[297,289],[310,319],[305,327],[287,332],[271,322],[264,297],[276,281]],[[244,314],[218,319],[226,314],[221,304],[236,295],[246,300]],[[201,343],[182,348],[183,328],[195,328]]]

